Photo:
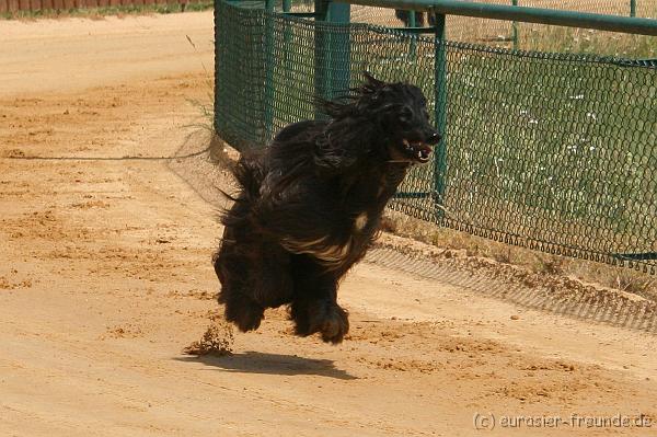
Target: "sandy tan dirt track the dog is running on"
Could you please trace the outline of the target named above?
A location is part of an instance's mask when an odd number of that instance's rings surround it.
[[[122,158],[207,143],[211,26],[0,21],[1,436],[657,435],[653,334],[394,266],[344,281],[342,345],[280,309],[184,355],[220,312],[217,208],[175,161]]]

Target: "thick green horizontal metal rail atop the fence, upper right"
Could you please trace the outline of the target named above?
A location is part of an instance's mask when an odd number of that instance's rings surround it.
[[[476,16],[481,19],[520,21],[556,26],[596,28],[657,36],[657,20],[634,16],[604,15],[588,12],[561,11],[507,4],[477,3],[461,0],[335,0],[350,4],[378,8],[427,11],[446,15]]]

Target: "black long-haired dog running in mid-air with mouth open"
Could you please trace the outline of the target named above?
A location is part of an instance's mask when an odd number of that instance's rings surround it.
[[[298,335],[339,343],[349,329],[338,281],[373,241],[406,170],[440,140],[418,88],[366,78],[323,103],[330,119],[289,125],[235,166],[240,192],[214,263],[226,319],[242,331],[286,303]]]

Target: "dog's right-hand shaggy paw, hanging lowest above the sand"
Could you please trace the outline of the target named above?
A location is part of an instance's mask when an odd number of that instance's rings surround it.
[[[302,309],[292,303],[292,318],[297,324],[297,335],[320,333],[326,343],[341,343],[349,332],[348,313],[331,301],[316,300]]]

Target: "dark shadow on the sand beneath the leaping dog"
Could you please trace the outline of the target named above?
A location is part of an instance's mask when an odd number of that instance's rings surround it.
[[[345,370],[335,367],[331,359],[304,358],[297,355],[268,354],[262,352],[243,352],[223,357],[198,356],[181,357],[182,361],[203,363],[224,371],[263,375],[316,375],[335,379],[358,379]]]

